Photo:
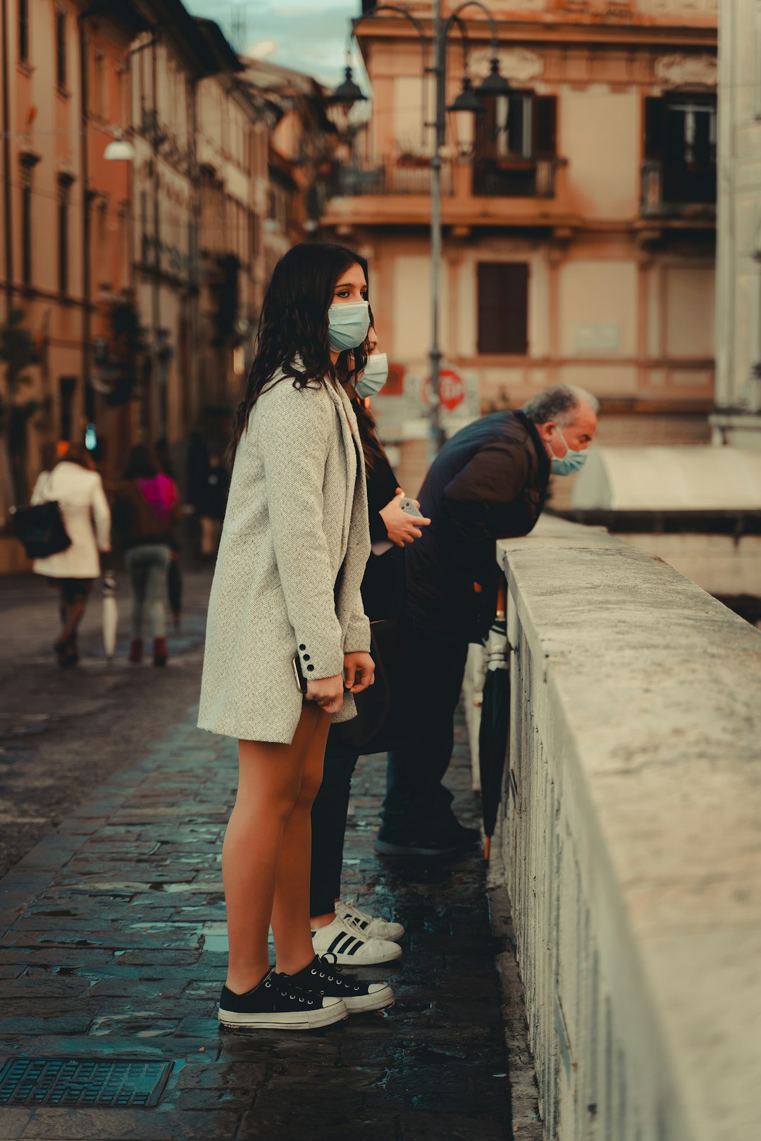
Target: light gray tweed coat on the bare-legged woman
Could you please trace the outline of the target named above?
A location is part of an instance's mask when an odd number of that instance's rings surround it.
[[[280,374],[282,375],[282,373]],[[362,443],[343,390],[280,380],[238,444],[209,598],[199,726],[290,743],[305,678],[370,649],[359,586],[370,556]],[[338,588],[339,569],[343,567]],[[334,720],[356,715],[346,694]]]

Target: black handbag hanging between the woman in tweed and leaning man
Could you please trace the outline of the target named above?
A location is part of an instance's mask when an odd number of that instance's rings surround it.
[[[356,718],[331,726],[331,747],[384,753],[403,742],[407,731],[407,705],[412,699],[412,639],[410,618],[382,618],[370,623],[375,683],[355,695]]]

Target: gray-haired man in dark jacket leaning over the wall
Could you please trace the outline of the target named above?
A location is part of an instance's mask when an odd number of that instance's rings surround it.
[[[420,491],[431,526],[407,552],[407,613],[415,623],[419,680],[410,731],[388,754],[388,785],[375,848],[386,856],[443,856],[478,841],[452,811],[442,784],[454,744],[468,644],[494,618],[502,574],[499,539],[527,535],[550,472],[573,475],[597,430],[598,402],[556,385],[518,412],[495,412],[447,440]]]

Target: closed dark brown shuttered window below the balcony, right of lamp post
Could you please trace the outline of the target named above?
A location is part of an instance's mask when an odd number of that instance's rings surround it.
[[[478,264],[478,351],[528,351],[528,265]]]

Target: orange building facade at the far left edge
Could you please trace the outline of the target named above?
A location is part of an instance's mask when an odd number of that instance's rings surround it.
[[[18,315],[33,354],[26,383],[0,365],[0,570],[22,565],[3,537],[8,509],[56,445],[98,419],[104,443],[121,429],[95,345],[131,280],[130,173],[105,152],[129,127],[129,46],[146,27],[131,0],[18,0],[3,13],[0,324]]]

